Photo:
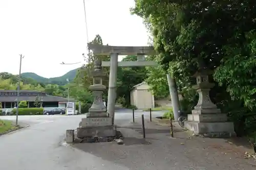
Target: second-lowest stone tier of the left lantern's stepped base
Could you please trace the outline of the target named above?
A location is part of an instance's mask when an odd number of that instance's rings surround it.
[[[82,118],[79,127],[99,127],[99,126],[112,126],[111,117],[87,117]]]

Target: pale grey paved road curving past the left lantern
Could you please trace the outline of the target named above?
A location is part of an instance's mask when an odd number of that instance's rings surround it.
[[[137,112],[136,117],[142,113]],[[148,114],[144,114],[148,117]],[[153,114],[162,115],[158,112]],[[83,116],[19,116],[19,121],[30,127],[0,136],[0,169],[129,169],[63,144],[66,129],[75,129]],[[14,120],[15,116],[0,118]],[[118,110],[115,116],[119,123],[130,121],[131,118],[131,110]]]

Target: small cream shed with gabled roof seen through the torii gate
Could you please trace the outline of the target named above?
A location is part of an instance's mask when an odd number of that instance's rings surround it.
[[[142,82],[133,87],[131,91],[131,105],[138,109],[149,109],[155,107],[155,99],[150,86]]]

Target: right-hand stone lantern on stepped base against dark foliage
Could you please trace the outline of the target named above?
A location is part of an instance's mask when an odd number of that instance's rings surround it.
[[[197,79],[197,84],[193,88],[199,94],[197,105],[188,114],[185,127],[197,134],[207,137],[230,137],[235,135],[232,122],[227,122],[227,115],[211,102],[209,91],[214,87],[214,83],[209,82],[209,75],[212,71],[201,69],[193,76]]]

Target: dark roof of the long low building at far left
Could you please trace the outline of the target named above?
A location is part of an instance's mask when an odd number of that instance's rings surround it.
[[[68,102],[67,98],[48,95],[45,92],[36,90],[20,90],[19,101],[35,102],[36,96],[42,102]],[[0,90],[0,102],[15,102],[17,99],[17,90]],[[75,100],[70,99],[74,102]]]

